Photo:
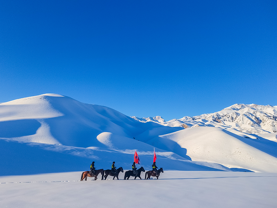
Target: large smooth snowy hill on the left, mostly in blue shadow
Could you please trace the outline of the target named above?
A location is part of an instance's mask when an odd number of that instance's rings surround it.
[[[102,132],[133,138],[154,127],[166,133],[179,130],[154,123],[142,124],[111,108],[84,104],[56,94],[2,103],[0,116],[2,138],[78,147],[99,145],[96,137]],[[18,123],[20,128],[13,128]]]

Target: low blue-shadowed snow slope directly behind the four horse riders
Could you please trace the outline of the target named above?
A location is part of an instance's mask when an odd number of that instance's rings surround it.
[[[152,169],[153,150],[150,145],[140,152],[141,166]],[[27,175],[38,173],[58,173],[87,171],[92,161],[96,169],[110,169],[113,161],[116,167],[131,169],[134,161],[134,149],[112,150],[105,147],[70,147],[23,141],[0,139],[1,171],[0,176]],[[151,151],[152,150],[152,151]],[[156,149],[158,164],[164,169],[178,170],[224,170],[230,169],[219,164],[192,162],[179,155]]]

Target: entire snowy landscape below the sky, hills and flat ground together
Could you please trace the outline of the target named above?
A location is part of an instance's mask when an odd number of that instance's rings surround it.
[[[57,94],[1,103],[0,207],[276,207],[276,109],[235,104],[166,122]],[[154,148],[159,180],[80,181],[92,161],[130,170],[135,150],[151,170]]]

